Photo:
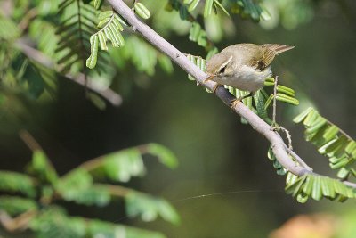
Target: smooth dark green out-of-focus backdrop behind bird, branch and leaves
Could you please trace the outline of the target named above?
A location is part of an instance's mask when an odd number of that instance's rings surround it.
[[[228,34],[217,46],[223,49],[242,42],[295,45],[293,51],[278,57],[273,71],[282,84],[295,88],[301,105],[279,103],[278,121],[290,130],[295,152],[316,172],[333,175],[328,160],[303,141],[303,128],[291,119],[313,104],[355,137],[356,4],[352,0],[285,1],[301,4],[296,12],[287,7],[274,11],[281,1],[266,2],[272,21],[278,19],[275,25],[234,17],[233,24],[225,25]],[[159,31],[158,23],[151,25]],[[207,33],[214,37],[214,26]],[[164,35],[184,53],[204,54],[185,36]],[[187,80],[178,67],[174,66],[172,75],[158,70],[153,77],[130,75],[127,72],[135,68],[126,67],[113,85],[124,99],[119,107],[98,110],[85,99],[83,87],[63,79],[54,102],[26,103],[15,119],[0,116],[0,168],[21,171],[30,160],[31,152],[18,135],[20,129],[36,138],[60,174],[104,153],[150,142],[164,144],[176,154],[180,166],[171,171],[147,158],[147,176],[129,185],[171,201],[181,215],[180,226],[128,219],[121,202],[103,209],[66,206],[72,215],[146,227],[168,237],[267,237],[297,214],[323,212],[343,217],[353,209],[353,200],[299,204],[287,196],[284,177],[276,175],[266,157],[268,142],[241,124],[213,94]]]

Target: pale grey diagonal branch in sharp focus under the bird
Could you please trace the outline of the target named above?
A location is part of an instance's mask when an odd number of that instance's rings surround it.
[[[176,64],[178,64],[182,70],[185,70],[191,76],[196,78],[198,85],[204,86],[209,90],[213,90],[215,83],[208,81],[204,83],[204,80],[208,77],[205,72],[199,70],[198,67],[190,62],[183,53],[176,49],[173,45],[167,42],[163,37],[160,37],[153,29],[150,29],[148,25],[142,22],[136,17],[134,12],[122,1],[122,0],[108,0],[109,4],[127,21],[134,30],[142,34],[152,45],[158,48],[159,51],[165,53]],[[236,98],[230,94],[223,86],[219,86],[215,91],[223,103],[231,107],[231,102]],[[279,163],[295,176],[303,176],[305,174],[314,174],[312,168],[308,167],[305,162],[295,153],[288,149],[287,144],[284,143],[281,136],[271,129],[263,119],[259,118],[253,111],[249,110],[243,103],[238,103],[232,108],[239,116],[246,119],[247,122],[257,132],[263,135],[270,143],[271,149]],[[301,165],[291,160],[289,154],[295,158]],[[356,187],[356,184],[351,182],[344,182],[345,185]]]

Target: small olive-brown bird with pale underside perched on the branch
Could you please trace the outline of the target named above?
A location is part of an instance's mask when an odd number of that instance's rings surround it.
[[[279,53],[283,53],[294,46],[279,44],[237,44],[230,45],[221,53],[215,54],[206,62],[206,73],[218,86],[227,85],[248,91],[250,94],[232,102],[235,106],[242,99],[253,96],[264,85],[264,79],[271,77],[271,62]]]

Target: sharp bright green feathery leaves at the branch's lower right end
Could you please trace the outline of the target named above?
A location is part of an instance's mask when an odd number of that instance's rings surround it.
[[[285,91],[284,87],[282,89]],[[345,181],[350,176],[355,176],[356,143],[349,135],[328,119],[321,117],[319,112],[312,107],[296,116],[294,121],[303,123],[305,139],[316,145],[320,154],[328,157],[330,168],[339,169],[337,173],[339,178]],[[345,201],[356,196],[354,188],[335,178],[315,174],[298,177],[287,172],[287,169],[276,160],[271,148],[268,157],[272,160],[273,167],[277,169],[277,174],[287,173],[286,193],[292,194],[299,202],[306,202],[309,198],[316,201],[320,201],[321,198]],[[293,157],[291,160],[294,160]]]

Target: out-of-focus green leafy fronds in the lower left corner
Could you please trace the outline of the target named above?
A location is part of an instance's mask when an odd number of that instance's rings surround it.
[[[33,177],[0,171],[2,192],[23,193],[27,196],[20,198],[1,195],[0,212],[6,212],[10,216],[34,212],[24,226],[28,226],[37,237],[165,237],[163,234],[129,226],[85,217],[69,217],[63,208],[52,204],[55,199],[102,207],[114,199],[121,198],[125,199],[125,209],[129,217],[140,216],[143,221],[154,221],[162,217],[169,223],[177,224],[179,216],[167,201],[123,186],[98,183],[103,176],[124,183],[132,176],[142,176],[146,171],[142,154],[157,157],[168,168],[174,168],[177,164],[174,154],[166,147],[160,144],[145,144],[89,160],[59,177],[44,152],[36,150],[28,166],[28,172]]]

